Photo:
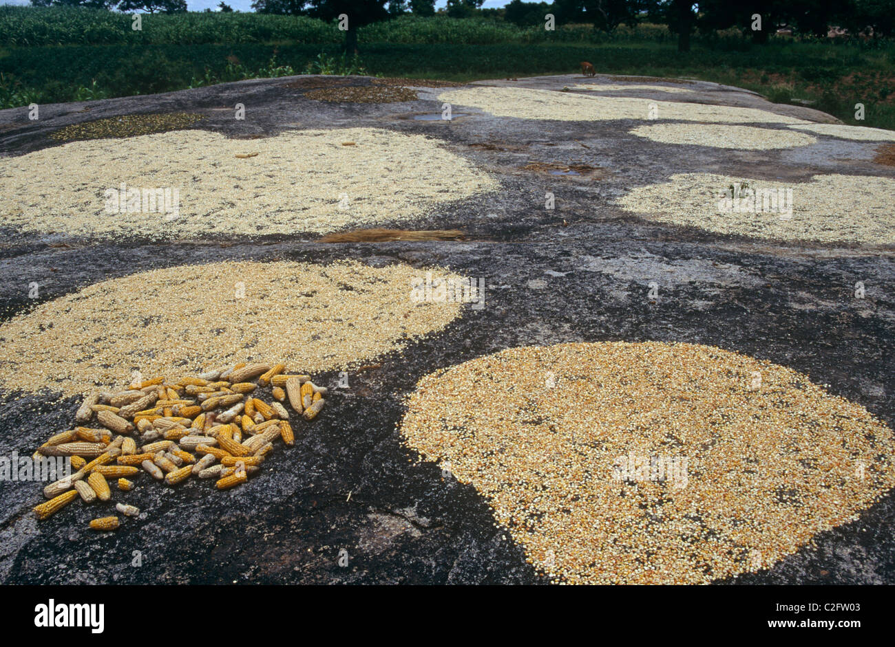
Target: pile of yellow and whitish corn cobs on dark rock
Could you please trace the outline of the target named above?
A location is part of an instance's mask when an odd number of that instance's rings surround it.
[[[130,492],[129,477],[141,469],[168,485],[192,475],[217,479],[218,490],[245,483],[277,438],[286,446],[294,444],[283,402],[309,422],[323,408],[327,389],[316,386],[309,375],[284,374],[285,369],[282,364],[237,364],[175,382],[157,377],[124,391],[88,396],[75,414],[80,426],[55,434],[34,454],[71,457],[77,470],[44,488],[48,500],[34,508],[35,514],[45,519],[79,496],[85,503],[110,500],[107,477],[117,478],[118,489]],[[270,403],[255,397],[256,389],[268,385],[275,400]],[[100,426],[83,426],[94,420]],[[128,517],[140,514],[124,503],[115,508]],[[118,525],[115,516],[90,522],[95,530]]]

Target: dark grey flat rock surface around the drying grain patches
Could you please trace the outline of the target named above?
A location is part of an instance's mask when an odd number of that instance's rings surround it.
[[[129,113],[202,113],[207,118],[196,128],[248,139],[288,129],[357,126],[422,133],[493,173],[501,190],[438,206],[413,223],[381,226],[456,228],[467,239],[323,244],[300,232],[259,239],[203,239],[197,232],[191,240],[152,242],[132,235],[108,242],[4,228],[4,320],[97,281],[226,259],[442,265],[482,278],[484,307],[465,307],[445,331],[349,372],[348,388],[335,391],[325,415],[296,438],[295,447],[278,449],[260,475],[233,491],[210,492],[209,483],[141,484],[127,496],[141,517],[128,519],[116,533],[97,534],[87,526],[96,516],[90,508],[73,504],[38,522],[30,509],[43,500],[43,483],[0,482],[4,583],[544,582],[511,534],[494,524],[473,487],[420,462],[396,430],[403,399],[423,375],[516,346],[600,340],[708,344],[791,366],[890,426],[895,423],[891,248],[719,235],[646,222],[612,204],[628,189],[680,172],[793,182],[823,172],[895,177],[895,167],[872,161],[879,144],[818,135],[817,144],[788,150],[670,146],[626,135],[634,120],[539,122],[456,105],[453,112],[465,116],[427,121],[414,117],[440,113],[439,88],[419,88],[414,102],[339,104],[312,101],[303,98],[306,89],[286,87],[300,79],[45,105],[37,122],[28,120],[24,108],[0,111],[0,155],[57,146],[48,135],[65,125]],[[568,75],[473,85],[559,90],[586,82],[613,80]],[[746,90],[694,85],[695,94],[638,90],[609,96],[756,107],[835,122],[808,108],[769,104]],[[233,118],[236,103],[246,106],[244,121]],[[533,163],[585,164],[592,170],[556,176],[525,168]],[[556,196],[551,211],[544,209],[548,191]],[[857,281],[865,284],[865,298],[855,298]],[[39,286],[37,299],[28,298],[32,282]],[[652,282],[658,298],[648,297]],[[338,380],[336,372],[316,377],[329,386]],[[30,456],[48,435],[71,427],[80,403],[6,392],[0,404],[0,455]],[[817,535],[816,546],[732,582],[895,583],[893,526],[895,497],[889,494],[856,522]],[[140,551],[140,567],[132,566],[134,551]],[[342,551],[347,566],[340,565]]]

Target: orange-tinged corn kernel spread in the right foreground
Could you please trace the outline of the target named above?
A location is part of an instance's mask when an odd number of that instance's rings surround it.
[[[405,441],[552,580],[771,567],[895,484],[891,430],[784,366],[660,342],[508,349],[427,375]]]

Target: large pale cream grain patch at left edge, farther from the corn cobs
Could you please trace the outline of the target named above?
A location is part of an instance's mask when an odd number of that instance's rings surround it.
[[[370,128],[78,141],[0,160],[0,215],[25,231],[105,238],[324,233],[499,187],[439,143]]]

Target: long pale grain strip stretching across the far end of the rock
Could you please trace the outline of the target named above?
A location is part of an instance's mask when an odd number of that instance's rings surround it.
[[[688,104],[638,97],[594,97],[530,88],[480,87],[447,90],[439,94],[439,101],[480,108],[500,117],[562,122],[678,119],[686,122],[806,123],[755,108]]]

